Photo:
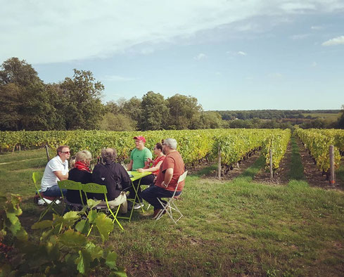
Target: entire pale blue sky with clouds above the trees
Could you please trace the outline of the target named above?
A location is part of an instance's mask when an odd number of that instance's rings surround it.
[[[204,110],[340,109],[344,1],[0,0],[0,63],[91,70],[103,102],[147,91]]]

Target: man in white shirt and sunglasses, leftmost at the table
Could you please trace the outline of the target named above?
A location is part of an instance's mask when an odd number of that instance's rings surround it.
[[[46,196],[61,196],[57,182],[68,179],[69,147],[59,146],[56,152],[57,156],[53,157],[46,165],[41,181],[42,193]],[[63,195],[65,193],[67,190],[63,190]]]

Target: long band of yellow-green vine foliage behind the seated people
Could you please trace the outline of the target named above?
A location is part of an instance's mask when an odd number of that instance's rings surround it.
[[[40,148],[45,145],[56,149],[68,145],[73,153],[87,149],[97,156],[104,147],[117,149],[118,159],[127,160],[134,148],[133,137],[146,137],[146,147],[153,150],[155,143],[172,137],[178,142],[178,150],[186,165],[200,160],[215,161],[220,150],[223,166],[234,165],[248,153],[262,148],[269,165],[269,149],[272,148],[273,167],[277,169],[286,152],[291,137],[290,130],[281,129],[208,129],[180,131],[2,131],[0,132],[1,152],[22,148]],[[53,154],[53,153],[52,153]]]

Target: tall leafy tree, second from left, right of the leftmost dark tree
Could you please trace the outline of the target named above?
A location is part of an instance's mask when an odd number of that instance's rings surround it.
[[[66,129],[98,129],[105,108],[101,103],[104,86],[91,71],[74,70],[72,78],[60,84],[64,101]]]

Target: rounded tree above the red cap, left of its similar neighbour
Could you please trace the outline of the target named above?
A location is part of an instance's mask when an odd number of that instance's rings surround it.
[[[142,97],[141,109],[143,112],[138,123],[141,130],[160,130],[165,127],[169,108],[164,96],[148,91]]]

